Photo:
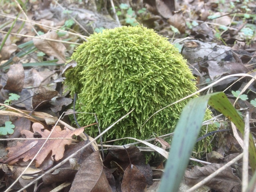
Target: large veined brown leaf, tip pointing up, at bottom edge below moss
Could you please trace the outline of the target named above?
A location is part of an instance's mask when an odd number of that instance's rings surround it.
[[[103,171],[99,151],[92,153],[83,161],[76,173],[70,192],[112,192]]]

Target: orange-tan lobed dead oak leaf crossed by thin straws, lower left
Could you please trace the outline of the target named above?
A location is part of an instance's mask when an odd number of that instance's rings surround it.
[[[32,125],[33,132],[28,130],[22,130],[20,133],[25,134],[27,138],[47,138],[50,134],[50,131],[45,129],[44,126],[40,123],[34,123]],[[65,151],[65,145],[70,145],[72,143],[71,139],[73,135],[79,135],[83,132],[83,128],[75,129],[73,131],[69,129],[61,130],[60,126],[56,126],[49,138],[63,138],[63,139],[50,139],[43,146],[42,150],[36,156],[36,167],[39,167],[47,155],[52,152],[51,158],[55,161],[58,161],[63,158],[63,153]],[[24,142],[18,142],[16,146],[7,147],[9,150],[8,159],[5,163],[12,165],[19,161],[19,159],[23,159],[23,161],[28,161],[29,159],[33,159],[36,153],[40,150],[45,140],[37,140],[37,143],[32,147],[26,147],[31,145],[31,143],[35,142],[34,140],[25,140]],[[26,151],[22,150],[27,148]],[[22,151],[22,152],[21,152]]]

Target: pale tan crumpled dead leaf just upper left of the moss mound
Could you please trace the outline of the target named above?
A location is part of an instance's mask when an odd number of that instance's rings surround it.
[[[38,48],[40,51],[43,51],[48,56],[54,56],[58,58],[57,64],[66,63],[66,47],[63,45],[63,43],[45,40],[45,38],[61,40],[58,34],[54,31],[51,31],[49,33],[41,35],[40,37],[41,39],[33,39],[35,47]]]

